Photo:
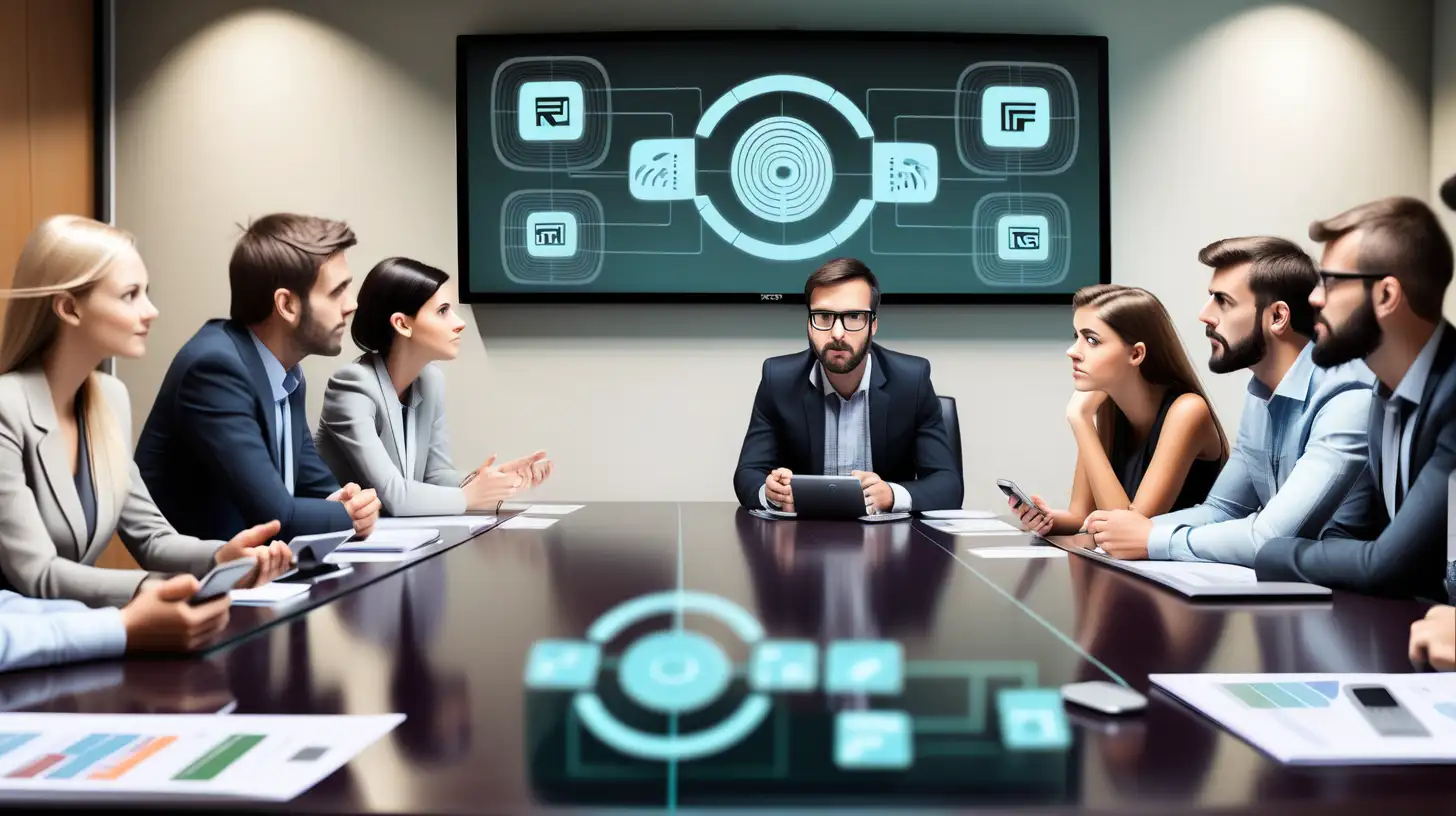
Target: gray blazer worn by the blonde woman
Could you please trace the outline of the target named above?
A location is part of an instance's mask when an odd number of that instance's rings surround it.
[[[131,484],[121,507],[96,474],[96,535],[67,460],[45,373],[29,366],[0,374],[0,589],[31,597],[66,597],[87,606],[124,606],[154,573],[202,577],[223,542],[185,536],[151,501],[131,460],[131,401],[121,380],[98,374],[102,396],[121,428]],[[96,567],[112,533],[143,570]]]

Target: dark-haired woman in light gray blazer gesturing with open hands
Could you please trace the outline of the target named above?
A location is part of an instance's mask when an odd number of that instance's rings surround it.
[[[387,516],[496,510],[552,471],[545,450],[462,474],[450,462],[444,374],[432,363],[460,354],[464,321],[450,275],[409,258],[380,261],[360,286],[354,344],[323,395],[314,444],[333,475],[374,488]]]

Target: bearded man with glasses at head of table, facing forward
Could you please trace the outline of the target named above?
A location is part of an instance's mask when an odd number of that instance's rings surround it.
[[[810,348],[763,361],[734,491],[750,509],[794,510],[794,474],[855,476],[866,513],[958,509],[930,363],[874,342],[879,281],[836,258],[804,284]]]

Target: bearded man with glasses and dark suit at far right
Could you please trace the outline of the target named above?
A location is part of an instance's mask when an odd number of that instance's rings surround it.
[[[1441,318],[1452,245],[1436,213],[1392,197],[1315,221],[1325,243],[1318,366],[1363,358],[1377,377],[1370,472],[1379,536],[1283,538],[1264,545],[1259,580],[1446,600],[1447,479],[1456,466],[1456,329]]]

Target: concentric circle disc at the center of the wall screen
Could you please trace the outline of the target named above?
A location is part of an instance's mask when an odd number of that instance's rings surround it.
[[[732,149],[732,189],[750,213],[786,224],[804,220],[828,201],[834,159],[808,122],[769,117],[754,122]]]

